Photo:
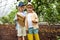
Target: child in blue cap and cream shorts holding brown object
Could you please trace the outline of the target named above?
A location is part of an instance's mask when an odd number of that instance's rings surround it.
[[[18,5],[18,13],[16,14],[15,17],[15,22],[16,22],[16,29],[17,29],[17,36],[18,36],[18,40],[24,40],[25,36],[26,36],[26,29],[25,27],[22,25],[24,24],[24,19],[25,19],[25,12],[24,12],[24,3],[23,2],[19,2]],[[22,22],[23,23],[20,23]]]

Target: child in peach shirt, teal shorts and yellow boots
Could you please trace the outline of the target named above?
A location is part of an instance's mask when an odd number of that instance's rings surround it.
[[[33,35],[35,40],[40,40],[38,35],[38,16],[33,11],[33,6],[31,3],[27,4],[27,16],[25,20],[25,26],[28,31],[28,40],[33,40]]]

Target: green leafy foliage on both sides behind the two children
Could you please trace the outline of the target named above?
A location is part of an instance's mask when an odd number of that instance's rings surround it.
[[[28,3],[27,0],[24,1]],[[60,1],[59,0],[33,0],[35,12],[38,14],[39,22],[48,22],[49,24],[60,23]],[[4,16],[0,20],[3,23],[13,23],[14,15],[17,10],[13,10],[8,17]]]

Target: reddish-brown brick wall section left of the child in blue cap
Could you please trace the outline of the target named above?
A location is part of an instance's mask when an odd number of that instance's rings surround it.
[[[0,40],[17,40],[14,25],[0,25]]]

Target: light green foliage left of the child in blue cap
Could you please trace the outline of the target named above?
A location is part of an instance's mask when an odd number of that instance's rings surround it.
[[[0,21],[2,21],[3,24],[5,24],[5,23],[13,24],[16,13],[17,13],[17,9],[11,11],[11,13],[9,15],[0,18]]]

